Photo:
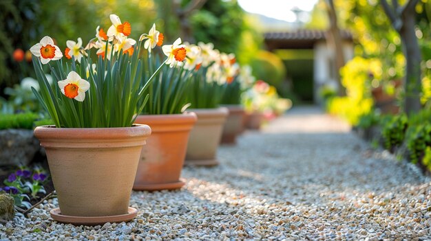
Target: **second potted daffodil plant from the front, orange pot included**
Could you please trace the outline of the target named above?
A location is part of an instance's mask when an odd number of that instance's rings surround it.
[[[153,25],[145,42],[148,52],[156,45],[161,45],[162,34]],[[154,41],[153,43],[150,43]],[[196,122],[194,113],[183,113],[187,104],[189,80],[193,73],[191,58],[185,58],[186,45],[180,44],[180,38],[173,45],[163,46],[163,53],[171,62],[162,67],[162,72],[148,84],[145,93],[150,101],[138,115],[135,123],[151,126],[151,137],[140,154],[140,161],[134,190],[174,190],[185,185],[180,181],[182,166],[187,150],[187,140],[193,124]],[[154,44],[157,43],[157,44]],[[174,56],[176,54],[176,56]],[[174,56],[174,58],[171,58]],[[183,63],[185,61],[185,64]],[[144,63],[143,76],[147,80],[151,69],[160,65],[160,58],[148,59]],[[144,83],[146,84],[146,83]]]

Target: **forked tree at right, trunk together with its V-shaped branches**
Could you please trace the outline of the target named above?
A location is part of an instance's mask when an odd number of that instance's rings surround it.
[[[400,5],[397,0],[392,0],[392,5],[387,0],[380,2],[392,26],[401,36],[403,53],[407,62],[404,79],[406,95],[404,111],[410,115],[421,109],[421,49],[414,29],[416,23],[415,7],[419,0],[409,0],[404,5]]]

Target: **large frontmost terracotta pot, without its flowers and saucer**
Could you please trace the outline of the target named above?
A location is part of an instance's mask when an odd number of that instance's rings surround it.
[[[34,135],[46,150],[61,215],[70,216],[73,223],[76,217],[101,217],[107,222],[107,216],[116,220],[128,214],[140,151],[150,134],[147,125],[37,127]]]

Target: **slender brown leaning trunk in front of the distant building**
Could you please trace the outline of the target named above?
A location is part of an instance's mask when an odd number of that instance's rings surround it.
[[[328,16],[330,21],[330,29],[328,34],[327,41],[332,45],[335,51],[335,79],[338,82],[338,95],[344,96],[346,95],[346,89],[341,84],[341,76],[339,74],[339,70],[344,66],[344,51],[343,51],[343,39],[341,38],[341,34],[339,31],[338,23],[337,23],[337,12],[335,12],[335,5],[333,0],[327,0],[327,9]]]

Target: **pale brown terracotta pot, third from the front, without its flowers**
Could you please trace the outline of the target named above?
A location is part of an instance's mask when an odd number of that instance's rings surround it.
[[[198,122],[191,130],[187,146],[186,164],[218,165],[215,159],[222,137],[223,124],[229,111],[220,108],[196,108],[189,110],[196,113]]]

